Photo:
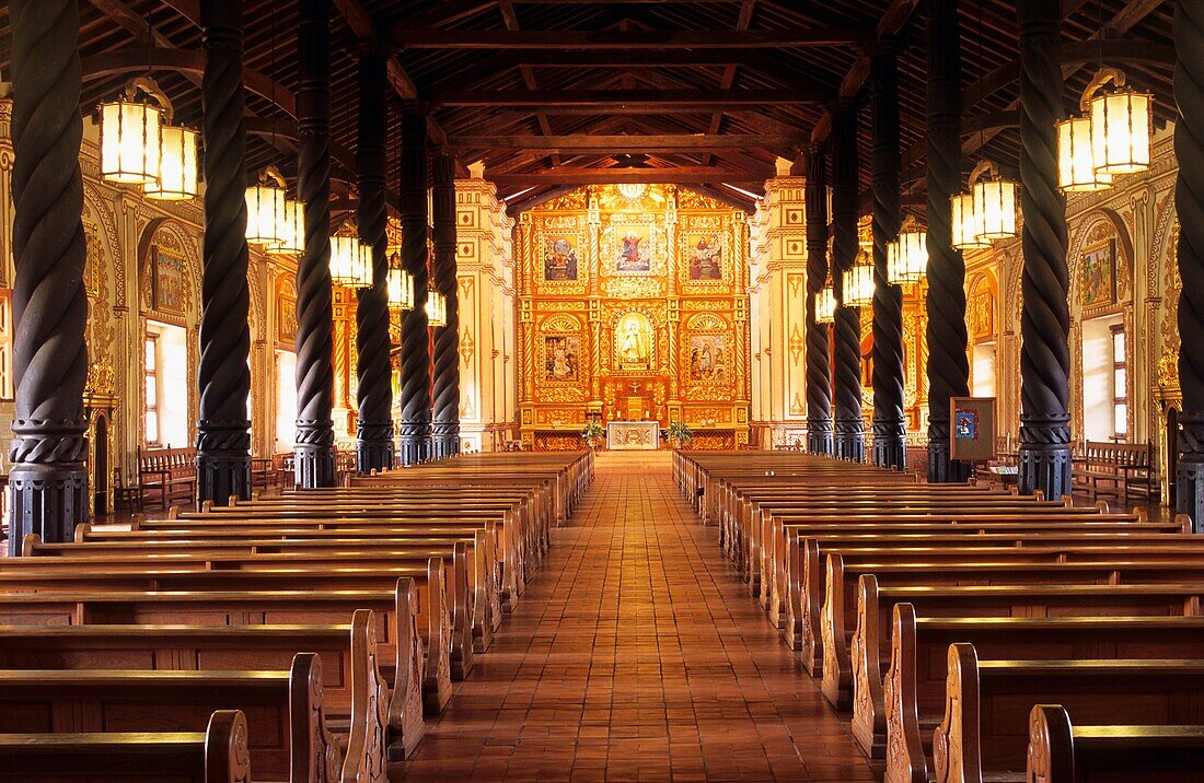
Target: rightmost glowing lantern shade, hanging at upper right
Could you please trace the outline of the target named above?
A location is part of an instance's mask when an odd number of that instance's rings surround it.
[[[1132,174],[1150,167],[1153,97],[1119,90],[1091,99],[1091,152],[1102,174]]]

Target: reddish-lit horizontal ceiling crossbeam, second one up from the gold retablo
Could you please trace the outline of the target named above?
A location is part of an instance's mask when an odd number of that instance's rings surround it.
[[[798,149],[802,136],[786,135],[660,135],[660,136],[453,136],[454,149],[543,150],[550,154],[639,154],[656,152],[708,152],[715,149]]]

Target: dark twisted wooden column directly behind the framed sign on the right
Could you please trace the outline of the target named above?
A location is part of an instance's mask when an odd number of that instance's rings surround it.
[[[966,357],[966,261],[954,248],[949,200],[961,190],[961,29],[957,0],[928,0],[928,481],[961,482],[964,462],[949,459],[949,398],[969,393]]]

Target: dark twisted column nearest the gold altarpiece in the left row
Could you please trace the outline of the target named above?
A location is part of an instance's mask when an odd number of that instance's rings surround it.
[[[460,452],[460,307],[455,277],[455,159],[435,156],[431,186],[431,244],[435,289],[447,297],[447,326],[435,332],[431,447],[441,459]]]

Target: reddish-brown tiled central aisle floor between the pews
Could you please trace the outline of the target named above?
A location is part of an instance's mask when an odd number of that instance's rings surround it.
[[[405,779],[874,779],[669,461],[598,456],[589,496]]]

